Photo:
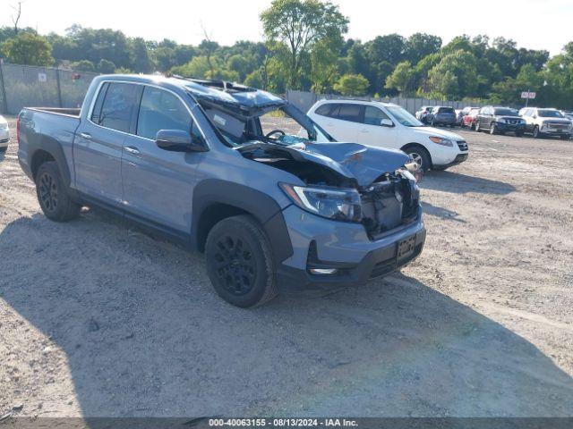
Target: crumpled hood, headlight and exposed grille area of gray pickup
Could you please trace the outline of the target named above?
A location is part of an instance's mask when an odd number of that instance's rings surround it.
[[[279,184],[296,206],[332,220],[362,223],[371,240],[418,217],[420,192],[402,152],[355,143],[254,143],[237,149],[304,181],[305,186]]]

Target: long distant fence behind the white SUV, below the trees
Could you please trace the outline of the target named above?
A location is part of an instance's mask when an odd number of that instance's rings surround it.
[[[294,104],[303,112],[307,112],[311,106],[318,100],[367,100],[367,101],[383,101],[385,103],[394,103],[395,105],[400,105],[404,107],[408,112],[414,114],[423,105],[449,105],[455,109],[463,109],[467,105],[473,107],[482,107],[483,103],[478,103],[475,101],[448,101],[448,100],[430,100],[427,98],[403,98],[403,97],[386,97],[386,98],[376,98],[376,97],[346,97],[338,96],[334,94],[314,94],[313,92],[295,91],[287,90],[286,98],[289,102]]]

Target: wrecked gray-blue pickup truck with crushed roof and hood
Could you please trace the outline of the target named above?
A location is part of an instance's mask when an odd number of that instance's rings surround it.
[[[279,287],[367,282],[423,248],[408,156],[338,143],[265,91],[99,76],[79,110],[23,109],[17,134],[47,218],[98,206],[162,232],[204,252],[214,289],[238,307]]]

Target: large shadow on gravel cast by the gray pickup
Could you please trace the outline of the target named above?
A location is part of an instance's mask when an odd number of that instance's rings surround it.
[[[201,256],[97,213],[18,219],[0,254],[2,299],[64,349],[84,416],[573,413],[533,344],[402,274],[241,310]]]

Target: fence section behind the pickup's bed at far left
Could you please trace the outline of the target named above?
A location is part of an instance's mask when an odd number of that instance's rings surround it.
[[[33,65],[0,64],[0,114],[22,107],[81,107],[98,73]]]

